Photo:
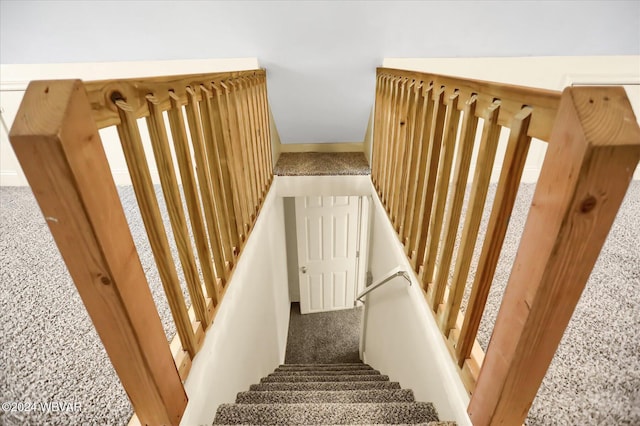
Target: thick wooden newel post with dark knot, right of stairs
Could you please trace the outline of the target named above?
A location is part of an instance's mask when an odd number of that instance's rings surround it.
[[[524,422],[639,158],[622,88],[565,89],[469,403],[474,425]]]

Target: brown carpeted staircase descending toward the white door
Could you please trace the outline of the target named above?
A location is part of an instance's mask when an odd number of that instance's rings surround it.
[[[421,424],[439,422],[433,404],[416,402],[367,364],[285,364],[218,407],[214,425]]]

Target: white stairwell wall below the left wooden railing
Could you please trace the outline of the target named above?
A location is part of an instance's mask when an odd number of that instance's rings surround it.
[[[274,185],[277,185],[274,183]],[[271,188],[185,383],[183,425],[211,424],[221,403],[234,402],[284,362],[289,292],[284,209]]]

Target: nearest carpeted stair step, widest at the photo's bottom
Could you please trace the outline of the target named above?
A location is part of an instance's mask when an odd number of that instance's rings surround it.
[[[214,424],[415,424],[437,421],[430,403],[222,404]]]

